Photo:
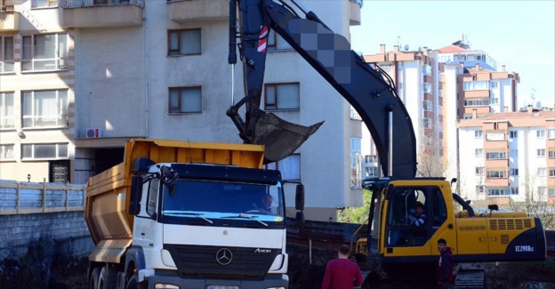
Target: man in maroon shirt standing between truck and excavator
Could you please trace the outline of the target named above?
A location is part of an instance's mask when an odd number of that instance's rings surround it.
[[[342,245],[337,250],[337,259],[327,262],[322,289],[353,289],[362,285],[362,274],[357,263],[349,260],[350,248]]]

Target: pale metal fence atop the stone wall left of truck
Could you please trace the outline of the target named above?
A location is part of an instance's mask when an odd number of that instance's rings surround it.
[[[84,185],[0,181],[0,214],[84,210]]]

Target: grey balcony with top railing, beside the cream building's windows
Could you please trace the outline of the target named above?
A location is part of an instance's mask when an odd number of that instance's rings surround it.
[[[60,0],[64,28],[142,25],[144,0]]]

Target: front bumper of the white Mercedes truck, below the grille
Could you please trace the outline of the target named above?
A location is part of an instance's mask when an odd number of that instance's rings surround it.
[[[180,277],[173,272],[155,272],[145,278],[149,289],[160,285],[177,285],[180,289],[209,289],[209,288],[237,288],[237,289],[266,289],[288,288],[289,277],[286,275],[267,275],[262,280],[237,280],[237,279],[210,279]],[[209,287],[211,286],[211,287]]]

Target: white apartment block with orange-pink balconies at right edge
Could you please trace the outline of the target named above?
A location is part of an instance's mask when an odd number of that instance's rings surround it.
[[[462,197],[555,203],[555,110],[474,116],[457,124]]]

